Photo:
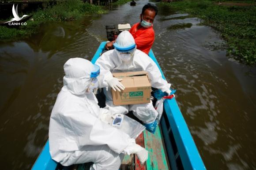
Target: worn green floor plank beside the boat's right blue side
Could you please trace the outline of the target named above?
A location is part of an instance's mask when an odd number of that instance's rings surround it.
[[[159,126],[154,134],[144,131],[145,149],[149,153],[147,170],[169,170]]]

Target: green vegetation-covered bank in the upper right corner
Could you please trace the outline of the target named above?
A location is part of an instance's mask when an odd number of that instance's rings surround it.
[[[219,4],[219,1],[214,0],[183,0],[171,3],[161,2],[159,5],[169,6],[175,11],[203,19],[204,25],[218,30],[226,40],[228,55],[255,66],[256,6],[250,1],[243,0],[226,2],[231,5]],[[232,2],[236,3],[236,6]]]

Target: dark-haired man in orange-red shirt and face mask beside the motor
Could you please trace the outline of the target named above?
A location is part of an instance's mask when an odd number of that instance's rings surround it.
[[[154,43],[153,21],[157,15],[157,7],[148,3],[142,8],[142,13],[139,15],[140,22],[134,24],[129,30],[135,39],[137,49],[145,52],[147,55]],[[112,49],[115,41],[106,44],[106,49]]]

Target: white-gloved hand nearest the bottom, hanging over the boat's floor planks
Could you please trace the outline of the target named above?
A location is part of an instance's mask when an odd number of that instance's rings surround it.
[[[145,148],[142,148],[138,144],[134,142],[130,143],[128,147],[124,149],[124,153],[130,155],[130,154],[136,154],[139,158],[139,162],[143,164],[147,161],[148,158],[148,151]]]

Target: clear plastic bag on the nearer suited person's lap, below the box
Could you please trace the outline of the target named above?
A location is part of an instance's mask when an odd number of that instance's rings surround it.
[[[119,114],[115,115],[118,117]],[[136,137],[139,136],[140,133],[143,132],[144,129],[146,129],[145,126],[137,122],[136,120],[129,118],[126,115],[122,115],[123,120],[120,124],[120,126],[114,126],[115,128],[121,130],[122,132],[128,134],[131,138],[136,139]],[[113,120],[113,122],[115,119]],[[112,123],[112,125],[115,123]]]

